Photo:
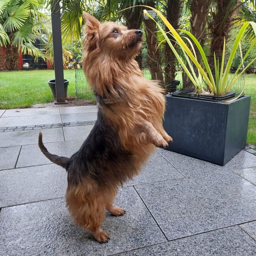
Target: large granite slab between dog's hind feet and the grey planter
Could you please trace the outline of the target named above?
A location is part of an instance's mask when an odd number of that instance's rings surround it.
[[[168,240],[256,220],[256,186],[231,171],[135,188]]]

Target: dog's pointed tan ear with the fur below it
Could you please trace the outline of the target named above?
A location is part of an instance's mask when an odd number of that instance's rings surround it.
[[[85,35],[87,38],[87,45],[89,50],[93,50],[98,46],[99,43],[99,25],[100,22],[95,17],[87,12],[83,12],[85,20]]]

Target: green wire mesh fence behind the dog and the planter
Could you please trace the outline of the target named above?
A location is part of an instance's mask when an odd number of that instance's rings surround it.
[[[156,58],[155,56],[148,55],[139,55],[136,60],[139,63],[141,70],[146,79],[158,80],[160,84],[166,88],[166,91],[169,92],[178,92],[181,90],[186,90],[188,88],[193,88],[193,84],[186,76],[186,73],[177,64],[176,61],[169,60],[166,61],[166,58],[163,56],[159,56]],[[212,63],[210,59],[208,59],[209,63]],[[204,64],[202,67],[204,67]],[[205,68],[204,68],[205,69]],[[213,69],[212,69],[213,70]],[[197,70],[195,69],[195,72]],[[82,65],[80,60],[77,60],[76,64],[76,97],[77,98],[87,98],[94,99],[93,92],[90,90],[87,81],[84,77],[84,72],[82,69]],[[215,77],[215,73],[212,72]],[[234,76],[237,76],[232,70],[228,74],[227,82],[231,81]],[[203,87],[207,89],[207,82],[203,79]],[[240,94],[244,87],[244,75],[240,76],[236,83],[232,87],[232,91],[236,94]]]

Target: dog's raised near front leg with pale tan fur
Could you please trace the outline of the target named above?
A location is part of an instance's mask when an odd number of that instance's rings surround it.
[[[139,139],[142,143],[152,143],[160,148],[168,147],[168,143],[165,138],[157,132],[150,122],[145,121],[143,124],[137,125],[136,131],[138,132],[137,139]]]

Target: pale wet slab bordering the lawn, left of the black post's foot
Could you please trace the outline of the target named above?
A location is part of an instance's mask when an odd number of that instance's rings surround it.
[[[37,115],[59,115],[58,108],[15,108],[7,109],[2,117],[9,116],[37,116]]]

